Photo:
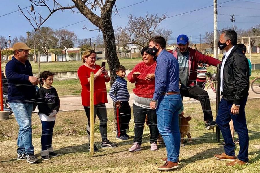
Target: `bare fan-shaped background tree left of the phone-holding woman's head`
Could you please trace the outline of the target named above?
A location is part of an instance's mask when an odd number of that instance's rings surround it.
[[[67,61],[67,49],[74,47],[78,36],[73,31],[67,29],[55,31],[55,36],[59,40],[60,47],[65,50],[65,61]]]

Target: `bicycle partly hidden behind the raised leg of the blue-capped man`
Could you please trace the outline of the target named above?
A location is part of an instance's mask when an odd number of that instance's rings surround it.
[[[205,88],[205,86],[207,85],[206,91],[208,91],[209,88],[212,89],[212,91],[214,93],[216,93],[216,89],[217,89],[217,74],[211,74],[210,72],[207,73],[207,77],[206,77],[206,81],[202,84],[202,89]],[[215,94],[214,94],[215,95]],[[183,97],[183,101],[189,101],[191,98],[190,97]],[[216,100],[216,97],[212,98],[209,97],[210,100]]]

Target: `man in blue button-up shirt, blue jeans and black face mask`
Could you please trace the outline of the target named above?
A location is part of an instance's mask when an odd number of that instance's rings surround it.
[[[181,135],[178,124],[178,111],[182,106],[179,90],[179,64],[177,59],[165,50],[166,41],[161,36],[150,39],[149,53],[157,56],[155,69],[155,92],[150,107],[156,108],[158,130],[164,139],[167,158],[158,170],[171,170],[178,167]]]

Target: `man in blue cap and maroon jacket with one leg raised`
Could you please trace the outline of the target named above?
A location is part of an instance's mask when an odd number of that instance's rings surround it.
[[[204,121],[206,122],[206,129],[210,130],[217,126],[217,124],[215,121],[213,121],[209,95],[207,91],[200,88],[199,86],[195,86],[198,63],[217,66],[221,63],[221,61],[188,47],[189,44],[189,37],[187,35],[181,34],[177,38],[178,47],[170,50],[169,52],[172,53],[179,62],[179,74],[181,79],[180,93],[182,98],[185,96],[200,101],[204,113]]]

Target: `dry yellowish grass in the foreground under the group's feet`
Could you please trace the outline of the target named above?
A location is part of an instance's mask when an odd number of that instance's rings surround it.
[[[216,153],[224,151],[220,142],[215,140],[215,132],[206,131],[203,123],[203,114],[200,104],[184,104],[184,116],[191,116],[190,122],[192,143],[185,142],[185,147],[180,150],[180,166],[172,172],[200,173],[200,172],[260,172],[260,99],[249,99],[246,105],[247,126],[249,130],[249,165],[227,167],[228,161],[218,161],[213,158]],[[213,116],[216,116],[216,104],[212,103]],[[0,121],[0,172],[77,172],[77,173],[150,173],[159,172],[161,157],[166,156],[164,145],[158,151],[150,151],[149,129],[145,125],[142,150],[135,153],[128,151],[134,136],[133,115],[129,124],[131,140],[120,141],[115,139],[113,132],[113,109],[107,109],[108,138],[118,144],[117,148],[101,149],[100,152],[90,156],[88,140],[86,138],[86,115],[84,111],[60,112],[57,114],[53,132],[53,147],[59,157],[49,161],[39,161],[38,164],[29,164],[26,161],[17,161],[16,138],[18,125],[14,116],[6,121]],[[32,116],[33,144],[35,153],[40,155],[41,124],[36,114]],[[99,123],[94,126],[94,140],[100,147],[101,137]],[[236,134],[235,134],[236,135]],[[237,135],[236,135],[237,136]],[[221,137],[222,138],[222,137]],[[221,141],[222,142],[222,141]],[[235,152],[238,153],[239,146]]]

